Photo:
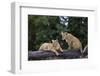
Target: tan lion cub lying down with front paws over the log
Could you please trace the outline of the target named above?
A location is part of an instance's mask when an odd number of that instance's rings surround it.
[[[59,53],[57,51],[61,51],[63,52],[58,40],[52,40],[52,43],[43,43],[40,48],[40,51],[52,51],[54,52],[56,55],[59,55]]]

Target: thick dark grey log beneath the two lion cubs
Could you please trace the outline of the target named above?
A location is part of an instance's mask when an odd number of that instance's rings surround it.
[[[52,51],[28,51],[28,60],[47,60],[47,59],[76,59],[80,58],[81,53],[78,49],[64,50],[56,56]]]

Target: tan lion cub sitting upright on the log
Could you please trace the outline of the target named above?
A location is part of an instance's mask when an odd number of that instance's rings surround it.
[[[68,43],[69,49],[80,49],[82,53],[82,44],[80,40],[68,32],[61,32],[62,40]]]

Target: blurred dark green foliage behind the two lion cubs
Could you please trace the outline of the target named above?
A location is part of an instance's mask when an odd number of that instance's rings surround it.
[[[61,47],[67,49],[68,44],[62,40],[61,31],[79,38],[84,48],[88,43],[88,18],[28,15],[28,50],[38,51],[41,44],[53,39],[58,39]]]

